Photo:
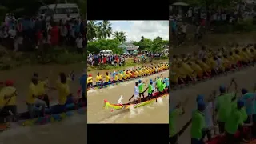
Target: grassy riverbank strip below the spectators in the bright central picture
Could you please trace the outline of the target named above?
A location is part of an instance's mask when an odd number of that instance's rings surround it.
[[[145,62],[145,63],[134,63],[132,59],[127,59],[125,66],[110,66],[110,65],[99,65],[99,66],[90,66],[87,65],[87,71],[94,71],[94,70],[123,70],[124,68],[131,67],[131,66],[142,66],[147,64],[157,64],[160,62],[168,62],[168,57],[164,57],[158,60],[153,60],[152,62]]]

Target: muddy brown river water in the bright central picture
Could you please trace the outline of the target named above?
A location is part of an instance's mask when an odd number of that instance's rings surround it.
[[[164,77],[168,77],[169,70],[162,72]],[[150,78],[156,78],[160,74],[142,78],[142,82]],[[128,102],[134,94],[134,83],[138,80],[123,82],[118,86],[110,86],[99,90],[88,91],[88,123],[168,123],[168,98],[162,98],[157,103],[150,106],[142,106],[136,110],[110,110],[102,109],[103,100],[110,103],[118,103],[118,99],[123,95],[123,103]],[[147,86],[145,86],[146,89]],[[146,93],[145,93],[146,94]],[[154,115],[154,117],[152,117]]]

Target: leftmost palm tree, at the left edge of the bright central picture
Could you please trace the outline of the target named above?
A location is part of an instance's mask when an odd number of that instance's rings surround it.
[[[98,26],[96,21],[87,22],[87,39],[93,41],[98,38]]]

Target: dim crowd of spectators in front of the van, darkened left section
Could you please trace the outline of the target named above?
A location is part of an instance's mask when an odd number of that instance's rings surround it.
[[[83,53],[86,21],[79,17],[70,18],[69,14],[58,22],[46,19],[43,15],[16,19],[14,14],[6,14],[4,22],[0,23],[0,44],[14,51],[73,46],[79,54]]]

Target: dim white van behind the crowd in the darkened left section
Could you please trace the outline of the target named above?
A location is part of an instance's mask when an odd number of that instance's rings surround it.
[[[53,14],[54,21],[58,22],[60,19],[66,19],[67,14],[70,14],[70,18],[78,18],[80,16],[78,5],[75,3],[58,3],[55,9],[56,4],[50,4],[48,6],[41,6],[39,8],[38,14],[45,15],[47,20],[49,20],[50,15]]]

